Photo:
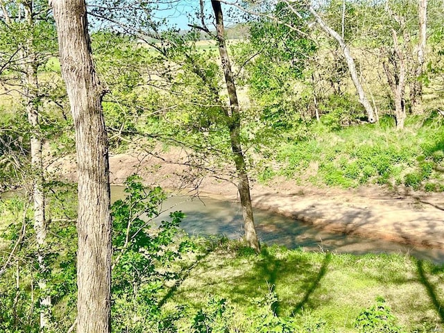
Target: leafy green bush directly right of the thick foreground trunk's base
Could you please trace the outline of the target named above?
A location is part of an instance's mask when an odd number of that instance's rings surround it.
[[[158,216],[165,198],[162,189],[145,187],[139,176],[128,177],[124,184],[126,198],[112,205],[114,332],[147,332],[155,323],[170,332],[165,325],[171,318],[162,319],[158,302],[165,284],[178,278],[174,263],[191,247],[177,238],[184,214],[173,212],[171,221],[151,228],[149,221]]]

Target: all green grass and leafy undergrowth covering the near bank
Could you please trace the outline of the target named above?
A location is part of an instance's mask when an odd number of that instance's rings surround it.
[[[75,191],[59,185],[46,276],[51,316],[76,318]],[[339,255],[189,239],[180,212],[153,224],[164,198],[137,176],[113,205],[112,332],[432,332],[444,320],[444,268],[408,255]],[[69,200],[68,200],[69,198]],[[0,330],[37,332],[35,234],[23,198],[1,201]],[[186,217],[185,217],[186,218]],[[155,227],[155,228],[153,228]],[[15,245],[19,244],[19,248]],[[8,265],[8,253],[22,261]]]

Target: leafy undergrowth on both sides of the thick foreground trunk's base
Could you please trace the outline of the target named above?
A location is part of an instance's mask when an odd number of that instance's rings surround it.
[[[52,195],[48,197],[52,222],[48,246],[41,250],[45,266],[50,269],[43,273],[46,291],[53,302],[54,322],[58,323],[59,329],[67,330],[76,316],[76,205],[73,205],[76,191],[60,183],[51,187],[58,191],[49,192]],[[189,239],[180,238],[178,234],[178,225],[184,215],[173,212],[171,220],[151,223],[165,198],[162,190],[159,187],[148,189],[138,176],[131,176],[126,180],[125,191],[127,197],[112,205],[114,330],[126,332],[128,328],[131,332],[147,332],[151,327],[150,332],[176,332],[173,323],[183,311],[180,307],[176,311],[163,311],[158,302],[168,290],[168,282],[178,279],[178,259],[193,246]],[[19,241],[13,261],[0,274],[0,305],[7,309],[0,314],[0,330],[7,333],[37,332],[40,273],[35,260],[33,229],[26,230],[26,237],[20,239],[22,214],[26,212],[28,229],[31,210],[21,198],[0,203],[2,223],[7,223],[6,216],[10,216],[10,226],[1,238],[8,239],[10,250]],[[6,257],[0,258],[3,266]]]

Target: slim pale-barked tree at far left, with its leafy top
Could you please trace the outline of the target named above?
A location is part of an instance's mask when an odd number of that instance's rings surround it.
[[[44,96],[43,89],[37,79],[37,70],[53,53],[52,24],[47,14],[46,1],[0,1],[0,22],[4,28],[1,31],[2,42],[0,52],[4,56],[0,63],[0,75],[6,92],[10,93],[19,87],[23,96],[23,104],[30,130],[31,153],[31,183],[33,195],[34,230],[37,239],[37,262],[39,270],[39,288],[42,291],[40,299],[40,327],[48,328],[50,323],[51,297],[47,295],[46,286],[46,232],[44,193],[44,166],[42,158],[43,133],[40,123],[40,105]],[[40,33],[47,40],[37,40]],[[12,37],[13,36],[13,37]],[[5,56],[6,55],[6,56]]]

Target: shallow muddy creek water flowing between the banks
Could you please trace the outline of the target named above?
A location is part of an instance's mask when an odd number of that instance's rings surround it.
[[[112,200],[123,196],[122,187],[112,187]],[[186,217],[181,227],[191,235],[224,235],[239,239],[242,234],[242,211],[239,203],[200,197],[172,196],[164,201],[160,222],[169,218],[169,212],[181,210]],[[383,240],[363,239],[345,234],[326,232],[286,216],[255,209],[257,234],[262,243],[278,244],[287,248],[303,248],[334,253],[400,253],[418,259],[444,263],[444,250],[418,248]]]

